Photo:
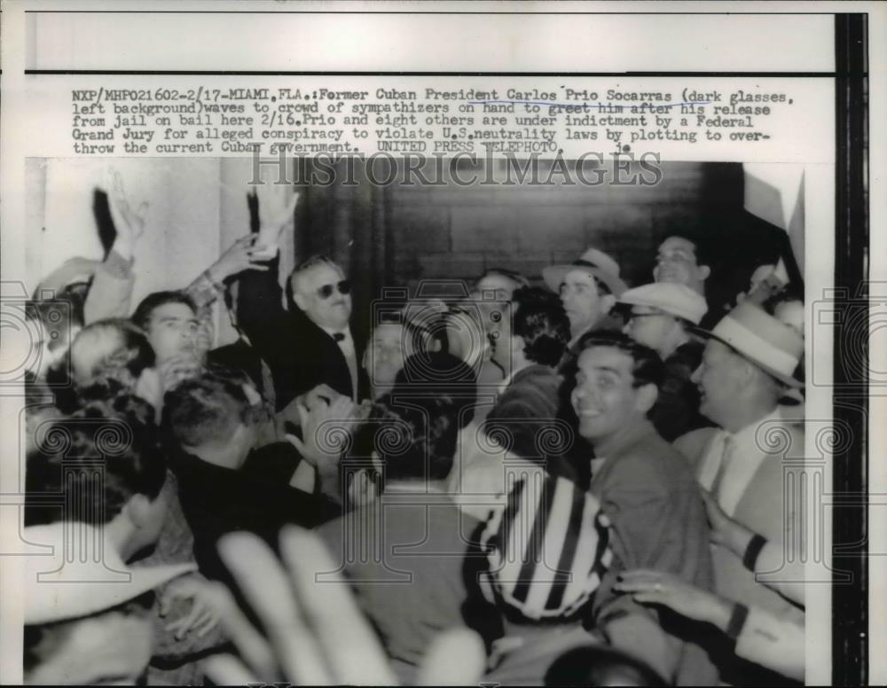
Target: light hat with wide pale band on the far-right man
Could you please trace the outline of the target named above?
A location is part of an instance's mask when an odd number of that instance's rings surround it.
[[[710,331],[694,330],[723,342],[789,387],[804,387],[795,379],[797,364],[804,355],[804,339],[758,306],[742,301]]]

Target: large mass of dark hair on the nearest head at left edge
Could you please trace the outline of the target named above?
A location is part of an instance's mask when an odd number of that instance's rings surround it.
[[[99,526],[132,496],[155,499],[166,481],[166,460],[153,408],[117,380],[78,393],[79,408],[35,428],[25,470],[25,525],[65,520]]]

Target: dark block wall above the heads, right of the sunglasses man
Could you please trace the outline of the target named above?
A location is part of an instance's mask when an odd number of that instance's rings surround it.
[[[652,281],[663,238],[691,231],[706,240],[715,276],[709,295],[718,303],[746,289],[751,271],[785,250],[785,233],[743,208],[741,164],[661,168],[655,186],[391,187],[393,278],[411,287],[421,279],[470,281],[500,265],[541,280],[546,265],[572,262],[594,246],[619,262],[629,285],[641,285]],[[547,170],[543,164],[540,178]]]

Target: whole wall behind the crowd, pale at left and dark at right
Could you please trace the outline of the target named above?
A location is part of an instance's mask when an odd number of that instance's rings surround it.
[[[550,164],[539,163],[538,178],[547,178]],[[302,168],[288,174],[304,179],[294,174]],[[462,176],[472,171],[460,168]],[[299,188],[296,230],[281,241],[281,273],[310,254],[331,254],[355,284],[357,324],[365,326],[360,320],[383,286],[406,285],[414,293],[422,280],[471,283],[493,266],[538,280],[543,267],[571,262],[588,246],[616,258],[628,284],[644,284],[652,280],[663,238],[695,231],[711,249],[710,301],[731,300],[758,264],[775,262],[787,235],[744,210],[741,165],[663,162],[661,168],[653,186],[612,184],[611,167],[604,169],[608,183],[591,187],[378,186],[367,183],[358,164],[351,175],[356,185],[342,184],[346,176],[339,174],[334,184]],[[29,291],[68,257],[105,255],[114,235],[102,198],[111,169],[122,175],[133,207],[148,203],[133,307],[147,293],[187,285],[248,231],[249,159],[28,160]],[[264,167],[262,176],[277,173]],[[216,327],[219,343],[235,336],[219,314]]]

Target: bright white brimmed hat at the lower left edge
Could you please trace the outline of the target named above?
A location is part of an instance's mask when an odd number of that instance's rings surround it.
[[[57,521],[28,526],[24,539],[45,552],[25,556],[25,623],[50,623],[96,614],[153,590],[196,564],[129,567],[100,528]]]

